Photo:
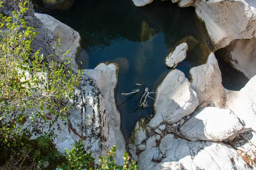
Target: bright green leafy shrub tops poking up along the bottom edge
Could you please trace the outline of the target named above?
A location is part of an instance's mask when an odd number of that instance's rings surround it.
[[[115,162],[116,146],[111,147],[107,156],[99,156],[100,166],[93,168],[94,158],[91,157],[91,152],[88,154],[84,150],[82,140],[76,142],[71,151],[65,149],[67,162],[62,166],[58,166],[59,170],[138,170],[136,162],[131,160],[129,162],[129,154],[125,151],[123,154],[124,166],[118,166]]]

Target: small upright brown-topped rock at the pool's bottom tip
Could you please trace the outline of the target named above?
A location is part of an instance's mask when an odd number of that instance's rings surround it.
[[[135,128],[134,128],[134,144],[139,145],[144,140],[147,139],[146,136],[146,129],[145,129],[145,118],[141,118],[140,121],[137,121]]]

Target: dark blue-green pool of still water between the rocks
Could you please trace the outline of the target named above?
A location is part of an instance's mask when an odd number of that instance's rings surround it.
[[[76,0],[68,11],[38,8],[37,12],[49,14],[79,32],[83,68],[95,68],[100,62],[120,64],[115,98],[125,138],[137,120],[153,113],[153,99],[148,99],[150,107],[146,109],[139,108],[137,101],[145,87],[156,90],[168,74],[164,59],[169,52],[180,42],[188,43],[187,57],[177,66],[188,79],[189,69],[204,64],[210,52],[207,31],[194,8],[179,8],[171,1],[155,0],[137,8],[131,0]],[[228,84],[233,81],[229,76],[225,79]],[[136,83],[144,85],[140,93],[121,96],[137,89]],[[239,89],[244,82],[238,84]]]

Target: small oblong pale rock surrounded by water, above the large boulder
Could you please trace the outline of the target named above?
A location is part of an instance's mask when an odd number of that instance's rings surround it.
[[[176,65],[186,58],[186,51],[188,51],[186,42],[178,45],[173,52],[166,57],[166,65],[168,67],[176,67]]]

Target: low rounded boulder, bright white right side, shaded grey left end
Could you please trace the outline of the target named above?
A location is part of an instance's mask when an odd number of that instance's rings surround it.
[[[223,141],[243,129],[237,116],[229,109],[200,108],[180,127],[181,134],[191,141]]]

